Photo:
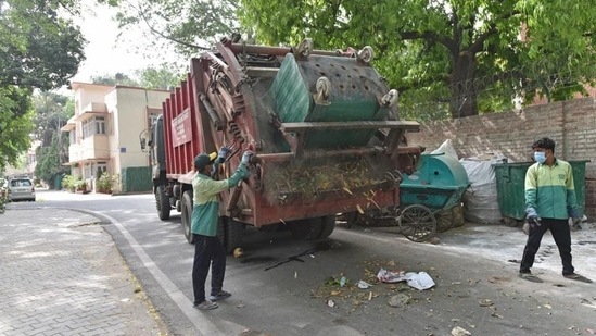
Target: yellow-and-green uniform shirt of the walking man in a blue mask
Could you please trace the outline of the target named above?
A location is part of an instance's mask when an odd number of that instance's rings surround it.
[[[558,159],[553,166],[532,164],[525,173],[525,207],[534,208],[543,219],[567,220],[576,211],[571,164]]]

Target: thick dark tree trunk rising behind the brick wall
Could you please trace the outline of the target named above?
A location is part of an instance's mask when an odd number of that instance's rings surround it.
[[[478,115],[478,91],[473,82],[475,67],[475,57],[469,51],[462,51],[455,58],[449,76],[449,112],[453,119]]]

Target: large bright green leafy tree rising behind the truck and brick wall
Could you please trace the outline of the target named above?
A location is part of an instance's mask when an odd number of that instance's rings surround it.
[[[406,101],[430,98],[460,117],[596,77],[591,13],[588,0],[241,0],[240,18],[261,42],[370,45],[376,67]],[[557,82],[561,64],[576,76]]]

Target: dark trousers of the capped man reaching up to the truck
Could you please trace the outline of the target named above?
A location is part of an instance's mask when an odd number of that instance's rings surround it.
[[[226,251],[217,237],[194,235],[194,263],[192,264],[192,289],[194,304],[205,300],[205,281],[211,269],[211,295],[224,287],[226,275]]]

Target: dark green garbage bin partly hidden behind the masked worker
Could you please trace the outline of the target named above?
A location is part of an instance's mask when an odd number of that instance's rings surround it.
[[[585,164],[589,160],[568,161],[573,170],[573,184],[580,214],[585,211]],[[500,214],[508,226],[525,219],[524,183],[525,172],[532,162],[494,164],[497,199]]]

